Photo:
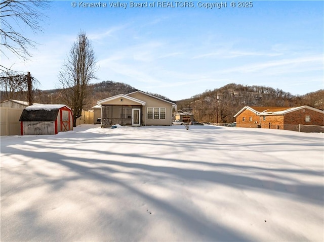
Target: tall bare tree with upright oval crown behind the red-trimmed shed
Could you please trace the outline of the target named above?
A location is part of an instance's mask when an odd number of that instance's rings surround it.
[[[78,34],[59,75],[64,102],[73,110],[73,126],[81,117],[88,85],[96,79],[96,56],[85,32]]]

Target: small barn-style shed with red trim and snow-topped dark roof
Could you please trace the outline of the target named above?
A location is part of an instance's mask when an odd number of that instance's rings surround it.
[[[26,107],[21,116],[21,135],[57,134],[73,130],[72,111],[62,104],[40,104]]]

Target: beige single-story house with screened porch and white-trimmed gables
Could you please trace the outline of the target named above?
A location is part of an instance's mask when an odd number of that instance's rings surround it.
[[[177,105],[142,91],[118,94],[97,102],[101,105],[101,126],[172,125]]]

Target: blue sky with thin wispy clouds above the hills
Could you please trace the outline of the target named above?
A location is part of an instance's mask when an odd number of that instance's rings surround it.
[[[58,73],[80,30],[97,56],[101,82],[124,82],[172,100],[228,83],[263,85],[292,94],[324,88],[322,1],[253,1],[251,8],[130,8],[130,1],[52,2],[28,62],[2,63],[30,71],[40,89],[59,87]],[[106,3],[83,8],[79,3]],[[110,3],[127,3],[111,8]],[[148,4],[162,1],[141,1]],[[182,2],[184,3],[184,2]],[[237,1],[235,1],[238,4]],[[199,6],[198,6],[199,5]]]

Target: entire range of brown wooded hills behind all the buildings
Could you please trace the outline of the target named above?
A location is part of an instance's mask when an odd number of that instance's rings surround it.
[[[103,81],[91,84],[85,110],[90,110],[97,101],[117,94],[127,94],[137,91],[135,87],[121,82]],[[233,116],[244,106],[294,107],[308,105],[324,110],[324,89],[305,95],[293,95],[281,89],[265,86],[248,86],[230,83],[213,90],[206,90],[185,100],[170,100],[165,96],[149,93],[161,99],[177,104],[178,112],[190,111],[195,119],[201,122],[230,123],[235,121]],[[16,99],[27,101],[26,92],[2,91],[1,101]],[[34,90],[33,102],[42,104],[64,104],[61,89]],[[218,116],[217,116],[218,114]]]

